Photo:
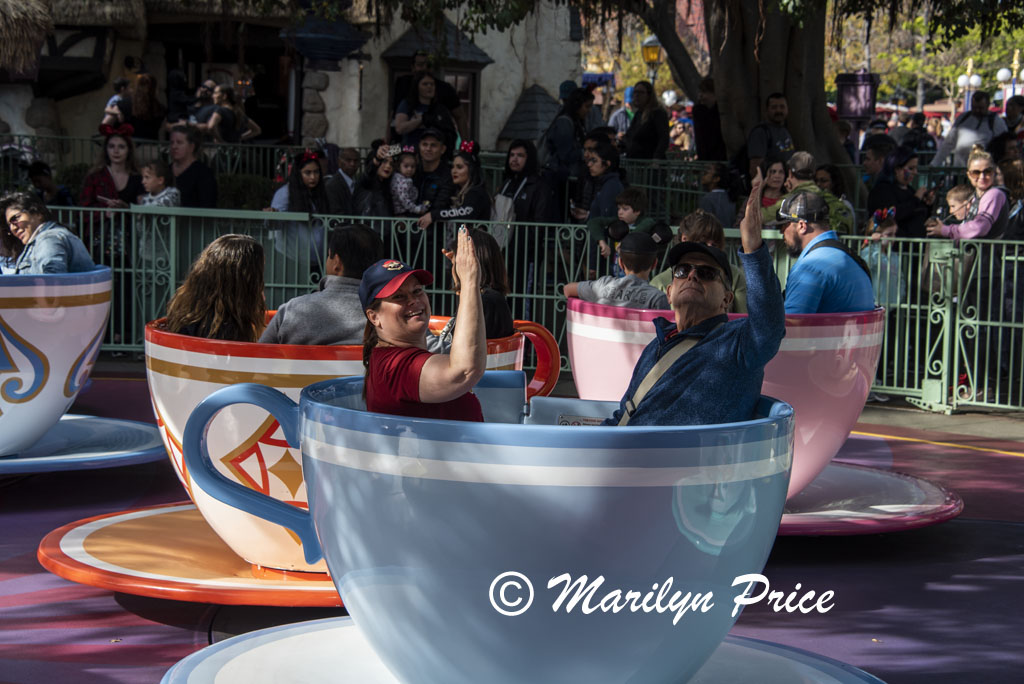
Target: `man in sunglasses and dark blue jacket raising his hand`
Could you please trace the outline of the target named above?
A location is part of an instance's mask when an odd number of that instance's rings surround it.
[[[666,294],[675,320],[654,319],[655,338],[605,425],[710,425],[754,415],[765,365],[785,335],[782,293],[761,240],[761,186],[758,171],[739,223],[750,314],[726,314],[733,295],[724,252],[696,242],[673,247]]]

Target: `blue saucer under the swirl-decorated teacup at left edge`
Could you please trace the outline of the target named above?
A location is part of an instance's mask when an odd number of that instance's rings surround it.
[[[156,425],[65,415],[25,452],[0,457],[0,475],[111,468],[166,458]]]

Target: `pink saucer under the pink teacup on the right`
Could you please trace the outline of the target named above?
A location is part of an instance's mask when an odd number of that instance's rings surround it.
[[[877,535],[925,527],[964,510],[958,495],[920,477],[830,463],[785,504],[779,535]]]

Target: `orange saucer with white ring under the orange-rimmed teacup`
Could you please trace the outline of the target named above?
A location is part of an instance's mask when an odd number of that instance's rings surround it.
[[[66,580],[116,592],[224,605],[336,607],[327,575],[258,573],[190,503],[79,520],[39,545],[39,562]]]

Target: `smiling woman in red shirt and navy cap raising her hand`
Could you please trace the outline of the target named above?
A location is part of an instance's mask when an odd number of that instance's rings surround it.
[[[463,287],[447,354],[427,351],[430,302],[424,287],[433,283],[433,275],[396,259],[382,259],[364,272],[359,301],[367,313],[362,364],[368,411],[483,421],[472,389],[483,376],[487,341],[480,268],[466,226],[459,229],[459,248],[455,268]]]

